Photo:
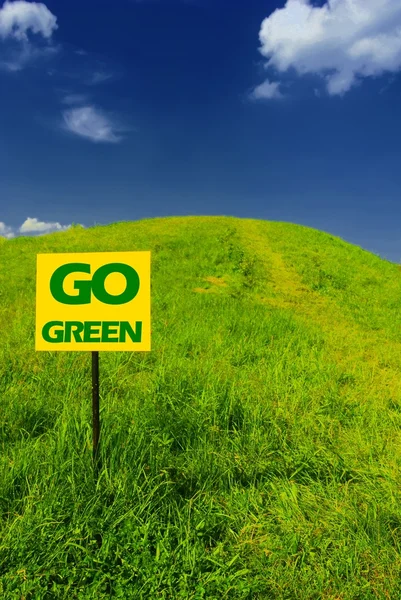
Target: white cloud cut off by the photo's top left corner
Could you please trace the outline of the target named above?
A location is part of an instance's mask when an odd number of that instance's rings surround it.
[[[5,2],[0,8],[0,36],[27,41],[27,31],[49,39],[57,29],[57,18],[41,2]]]

